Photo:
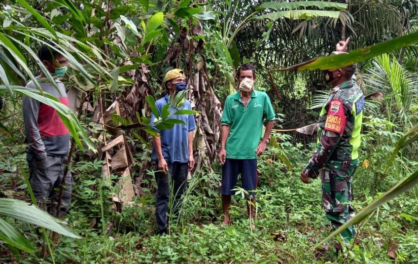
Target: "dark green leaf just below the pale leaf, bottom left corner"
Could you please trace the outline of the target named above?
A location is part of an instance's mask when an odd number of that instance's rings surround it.
[[[26,239],[26,237],[23,236],[22,233],[17,231],[13,226],[11,226],[9,223],[7,223],[1,218],[0,218],[0,240],[20,250],[24,250],[29,253],[35,252],[35,248],[29,242],[29,240]]]

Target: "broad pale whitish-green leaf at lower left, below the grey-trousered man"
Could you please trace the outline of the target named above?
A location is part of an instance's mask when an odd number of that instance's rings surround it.
[[[70,229],[59,224],[59,221],[48,213],[20,200],[0,198],[0,215],[44,227],[68,237],[81,238]]]

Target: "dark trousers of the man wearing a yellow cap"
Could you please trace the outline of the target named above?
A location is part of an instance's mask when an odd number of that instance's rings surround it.
[[[158,233],[167,233],[169,218],[167,212],[171,206],[173,215],[176,215],[181,207],[180,198],[186,189],[188,163],[168,163],[169,173],[159,171],[158,164],[155,166],[155,180],[157,181],[157,197],[155,200],[155,217],[157,219]],[[172,185],[170,186],[170,179]],[[173,203],[169,205],[170,189],[173,189]]]

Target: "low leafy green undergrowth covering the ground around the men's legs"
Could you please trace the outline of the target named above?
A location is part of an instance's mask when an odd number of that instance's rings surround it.
[[[354,206],[360,210],[379,197],[399,179],[407,176],[417,162],[405,156],[383,174],[385,160],[400,133],[372,129],[387,125],[385,120],[366,118],[363,148],[354,176]],[[218,193],[220,166],[212,172],[206,168],[194,173],[188,182],[180,217],[173,219],[170,235],[156,236],[154,202],[156,184],[152,171],[141,187],[144,196],[122,213],[112,208],[110,197],[115,189],[100,175],[103,162],[83,161],[73,166],[73,201],[66,219],[68,227],[82,235],[82,239],[61,237],[54,246],[56,263],[416,263],[418,261],[418,189],[414,188],[391,200],[358,226],[355,243],[343,254],[332,250],[319,258],[314,251],[330,231],[321,208],[319,179],[310,185],[299,180],[302,166],[311,155],[314,145],[304,148],[292,142],[290,135],[275,135],[281,148],[270,147],[258,158],[261,172],[258,182],[255,231],[249,228],[242,192],[233,197],[231,226],[221,224],[221,205]],[[371,149],[373,146],[373,151]],[[1,178],[2,196],[25,198],[26,186],[21,171],[26,169],[22,146],[1,145],[4,172]],[[285,150],[285,151],[283,151]],[[11,154],[10,154],[11,153]],[[285,154],[293,166],[286,167],[278,158]],[[413,155],[412,155],[413,156]],[[361,164],[360,163],[360,164]],[[116,176],[112,176],[117,178]],[[115,180],[114,179],[114,180]],[[102,189],[99,186],[103,186]],[[13,187],[13,188],[12,188]],[[103,200],[100,198],[102,191]],[[101,205],[104,214],[101,213]],[[9,219],[9,221],[11,221]],[[17,258],[2,251],[0,260],[8,263],[49,263],[42,257],[43,238],[34,227],[16,222],[29,236],[39,251]],[[105,233],[104,233],[105,231]],[[347,260],[346,260],[347,259]]]

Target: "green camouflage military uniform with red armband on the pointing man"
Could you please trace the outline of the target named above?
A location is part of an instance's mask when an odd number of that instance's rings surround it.
[[[306,166],[307,175],[316,178],[321,170],[323,206],[333,229],[352,215],[352,176],[358,165],[364,96],[353,81],[334,87],[318,121],[318,146]],[[342,233],[348,242],[354,226]]]

